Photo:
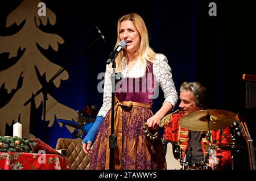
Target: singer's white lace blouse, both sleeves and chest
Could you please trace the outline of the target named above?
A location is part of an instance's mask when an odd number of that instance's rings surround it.
[[[140,61],[137,61],[133,68],[129,72],[127,72],[126,62],[127,59],[124,57],[122,59],[123,70],[121,71],[123,77],[138,78],[145,75],[146,65],[141,65]],[[166,56],[164,56],[163,54],[157,54],[156,60],[153,63],[153,74],[155,81],[158,82],[159,86],[164,92],[164,102],[169,102],[172,104],[172,106],[175,106],[178,96],[175,89],[174,81],[172,80],[171,68],[167,62],[168,60]],[[97,116],[105,117],[111,108],[111,71],[112,70],[110,68],[110,65],[107,65],[104,80],[103,104]]]

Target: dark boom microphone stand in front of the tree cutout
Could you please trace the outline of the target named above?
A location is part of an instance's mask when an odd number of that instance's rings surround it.
[[[77,58],[81,57],[83,54],[86,54],[88,52],[88,50],[90,49],[90,47],[92,47],[92,45],[94,43],[96,43],[99,39],[101,39],[101,36],[97,36],[96,39],[93,40],[93,42],[85,49],[85,51],[82,51],[82,53],[78,54],[75,58],[75,60],[77,60]],[[68,63],[71,61],[68,61],[67,64],[65,66],[68,65]],[[51,83],[53,83],[53,81],[64,71],[64,66],[60,68],[60,70],[58,70],[51,79],[49,79],[49,82],[46,83],[46,85],[43,85],[41,89],[39,89],[38,91],[36,91],[35,94],[32,94],[31,98],[27,100],[26,103],[24,103],[24,106],[27,106],[28,103],[32,102],[32,100],[34,100],[34,98],[39,95],[41,92],[43,93],[43,121],[46,121],[46,100],[48,100],[47,98],[47,94],[48,94],[48,87],[49,85],[51,85]]]

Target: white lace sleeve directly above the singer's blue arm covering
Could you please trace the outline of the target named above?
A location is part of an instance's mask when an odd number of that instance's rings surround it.
[[[106,117],[106,114],[111,108],[111,68],[110,65],[106,66],[105,80],[104,80],[104,92],[103,92],[103,104],[98,112],[97,116]]]

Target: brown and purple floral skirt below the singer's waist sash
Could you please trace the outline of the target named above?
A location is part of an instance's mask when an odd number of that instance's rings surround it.
[[[90,159],[90,169],[108,169],[109,163],[108,129],[111,111],[105,117],[97,133]],[[122,137],[121,151],[114,151],[114,165],[119,164],[123,170],[166,169],[166,159],[161,138],[150,140],[143,132],[143,121],[146,123],[153,115],[148,108],[133,107],[122,109],[122,133],[115,135]],[[116,150],[116,149],[114,149]],[[119,153],[120,152],[120,153]],[[116,155],[118,154],[118,156]],[[121,154],[121,155],[120,155]],[[115,160],[121,158],[121,160]]]

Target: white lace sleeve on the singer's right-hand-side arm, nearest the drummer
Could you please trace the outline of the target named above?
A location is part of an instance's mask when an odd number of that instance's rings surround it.
[[[156,56],[153,64],[154,78],[164,92],[164,102],[169,102],[172,106],[175,106],[178,96],[174,81],[172,80],[172,70],[167,62],[167,58],[163,54]]]

